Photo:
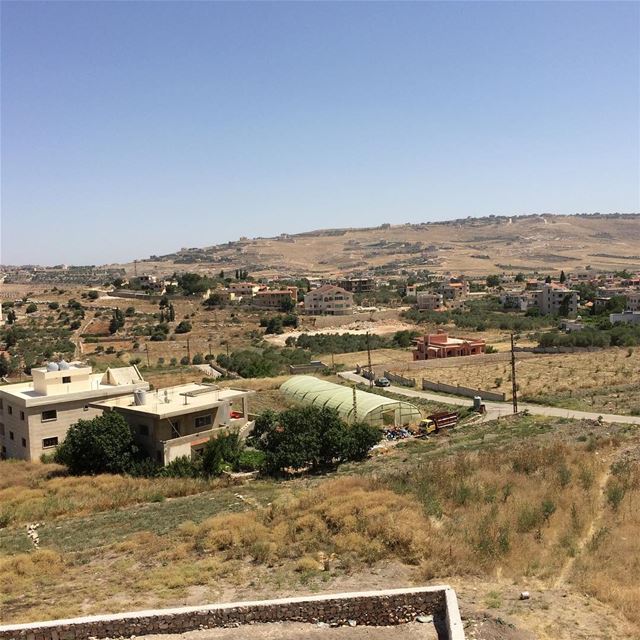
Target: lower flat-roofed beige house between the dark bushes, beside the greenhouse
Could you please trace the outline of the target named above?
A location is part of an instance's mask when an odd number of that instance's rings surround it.
[[[131,393],[93,406],[116,411],[130,425],[137,444],[160,464],[201,451],[211,436],[249,424],[253,391],[188,383]]]

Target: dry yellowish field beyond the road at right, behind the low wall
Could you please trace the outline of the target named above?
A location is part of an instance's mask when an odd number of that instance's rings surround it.
[[[412,375],[433,382],[504,392],[511,397],[509,362],[474,363],[459,358],[458,366],[433,368]],[[639,415],[640,349],[612,348],[527,358],[517,361],[520,399],[568,409]]]

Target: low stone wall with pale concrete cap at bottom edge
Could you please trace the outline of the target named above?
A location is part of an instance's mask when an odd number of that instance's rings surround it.
[[[397,625],[420,615],[445,619],[450,640],[464,640],[455,592],[447,586],[283,598],[0,626],[0,640],[88,640],[258,622]]]

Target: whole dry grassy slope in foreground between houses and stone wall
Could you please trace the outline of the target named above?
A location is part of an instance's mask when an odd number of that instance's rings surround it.
[[[557,593],[565,576],[563,589],[617,611],[616,637],[632,638],[638,447],[631,429],[525,416],[402,443],[329,477],[242,487],[49,478],[59,469],[2,462],[1,491],[22,515],[0,530],[0,617],[451,580],[527,629],[501,594]],[[39,550],[25,518],[43,523]],[[593,607],[573,606],[578,619],[584,608],[575,635],[538,637],[607,637],[584,635]]]

